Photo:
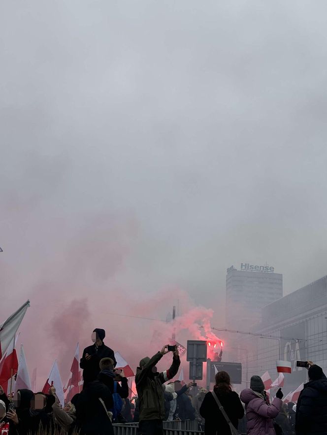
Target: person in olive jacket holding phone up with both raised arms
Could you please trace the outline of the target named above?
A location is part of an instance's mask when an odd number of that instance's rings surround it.
[[[172,364],[159,373],[156,364],[168,353],[168,345],[152,358],[141,359],[135,383],[139,403],[139,434],[163,435],[164,393],[163,383],[176,376],[181,364],[177,347],[174,347]]]

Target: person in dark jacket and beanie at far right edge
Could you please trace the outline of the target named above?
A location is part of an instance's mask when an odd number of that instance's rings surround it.
[[[327,434],[327,378],[323,369],[308,361],[309,382],[296,405],[296,435]]]

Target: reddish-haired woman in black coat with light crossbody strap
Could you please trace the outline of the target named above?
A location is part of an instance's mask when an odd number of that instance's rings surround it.
[[[200,414],[205,419],[205,435],[230,434],[229,425],[219,410],[213,394],[218,397],[231,423],[237,429],[238,420],[244,415],[244,408],[238,394],[231,390],[227,372],[216,374],[216,385],[212,393],[209,392],[205,395],[200,406]]]

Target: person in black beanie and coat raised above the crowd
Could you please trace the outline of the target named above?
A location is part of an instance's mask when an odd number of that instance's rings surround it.
[[[94,344],[83,350],[83,356],[79,363],[80,368],[83,369],[83,389],[88,383],[97,379],[100,373],[99,362],[102,358],[111,358],[114,362],[114,367],[117,364],[115,352],[103,343],[104,337],[104,329],[94,329],[92,333],[92,341]]]

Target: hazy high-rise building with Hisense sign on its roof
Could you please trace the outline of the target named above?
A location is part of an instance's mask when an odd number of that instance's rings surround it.
[[[244,330],[261,321],[262,307],[283,297],[283,275],[274,267],[241,263],[226,275],[226,326]]]

